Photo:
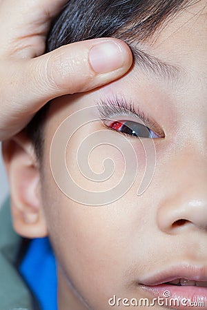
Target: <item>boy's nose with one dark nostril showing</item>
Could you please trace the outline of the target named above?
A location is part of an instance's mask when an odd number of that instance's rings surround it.
[[[184,147],[172,157],[164,185],[166,194],[157,209],[157,225],[170,234],[184,227],[207,233],[206,156],[198,149]]]

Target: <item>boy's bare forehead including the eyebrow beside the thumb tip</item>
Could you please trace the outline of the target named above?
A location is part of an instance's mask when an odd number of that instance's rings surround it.
[[[198,72],[206,77],[206,15],[206,1],[197,1],[179,11],[152,38],[144,42],[134,39],[131,47],[137,67],[163,78]]]

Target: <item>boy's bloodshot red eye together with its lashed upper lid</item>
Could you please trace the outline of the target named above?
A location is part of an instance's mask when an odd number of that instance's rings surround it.
[[[150,134],[150,137],[148,138],[164,138],[165,136],[163,130],[161,130],[161,128],[159,127],[159,125],[157,125],[155,121],[152,121],[150,118],[148,118],[148,116],[146,116],[144,112],[139,110],[138,107],[135,108],[135,105],[132,101],[126,101],[123,96],[121,96],[120,98],[116,96],[114,99],[106,99],[106,101],[98,101],[97,108],[99,110],[99,116],[103,121],[103,125],[110,128],[110,130],[121,132],[113,127],[110,127],[109,125],[106,125],[106,121],[111,121],[111,125],[115,125],[115,127],[119,127],[119,129],[121,129],[121,127],[123,127],[126,121],[123,121],[124,118],[122,118],[122,120],[120,120],[119,118],[119,121],[115,121],[113,120],[113,117],[132,116],[132,118],[137,119],[138,121],[129,121],[130,123],[137,123],[137,125],[139,125],[140,127],[145,127],[145,129],[148,129],[149,133],[152,132],[152,134]],[[126,127],[130,129],[131,126]],[[132,134],[128,134],[125,132],[121,132],[121,134],[130,136],[132,138],[137,138],[137,135],[133,136]]]

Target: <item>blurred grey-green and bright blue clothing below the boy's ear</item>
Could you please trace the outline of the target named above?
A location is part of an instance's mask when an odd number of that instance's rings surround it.
[[[12,229],[9,200],[0,209],[0,310],[57,310],[55,257],[48,238]]]

